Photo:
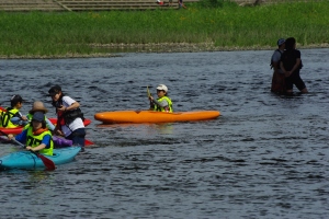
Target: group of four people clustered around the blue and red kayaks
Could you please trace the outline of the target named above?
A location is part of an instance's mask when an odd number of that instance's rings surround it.
[[[55,136],[71,141],[71,145],[79,145],[81,151],[84,151],[86,128],[80,104],[70,96],[65,95],[59,85],[52,87],[48,96],[52,97],[52,105],[56,108],[56,126],[46,117],[45,114],[48,110],[43,102],[34,102],[27,116],[23,116],[20,108],[24,100],[20,95],[14,95],[11,99],[10,107],[0,108],[0,127],[15,128],[23,125],[24,128],[21,134],[15,137],[9,134],[8,138],[14,138],[24,143],[27,150],[38,151],[46,155],[53,155]]]

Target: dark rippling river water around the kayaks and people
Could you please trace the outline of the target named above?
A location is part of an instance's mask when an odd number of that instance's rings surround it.
[[[309,94],[270,92],[273,51],[121,54],[0,60],[0,105],[60,84],[92,119],[94,142],[54,172],[1,171],[0,218],[327,218],[329,49],[302,49]],[[174,111],[217,119],[102,125],[104,111],[146,110],[164,83]],[[327,87],[328,85],[328,87]],[[295,88],[296,91],[296,88]],[[18,150],[1,145],[0,155]]]

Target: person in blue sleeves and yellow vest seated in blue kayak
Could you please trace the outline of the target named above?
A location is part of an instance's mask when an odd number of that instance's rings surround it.
[[[38,151],[45,155],[53,155],[54,142],[52,132],[46,127],[45,114],[42,112],[34,113],[32,125],[27,129],[24,129],[15,137],[9,134],[8,138],[14,138],[21,143],[26,145],[26,150]]]

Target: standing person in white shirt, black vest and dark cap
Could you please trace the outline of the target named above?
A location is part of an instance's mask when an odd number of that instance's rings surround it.
[[[50,88],[48,93],[57,114],[57,125],[54,134],[72,140],[73,145],[81,146],[81,151],[84,151],[86,128],[83,113],[79,108],[80,104],[70,96],[65,95],[59,85]]]

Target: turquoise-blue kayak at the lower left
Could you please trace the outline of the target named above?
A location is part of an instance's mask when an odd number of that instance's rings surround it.
[[[81,147],[54,149],[54,155],[45,155],[55,165],[71,162],[81,150]],[[0,158],[1,169],[39,169],[45,168],[43,161],[30,151],[19,151]]]

